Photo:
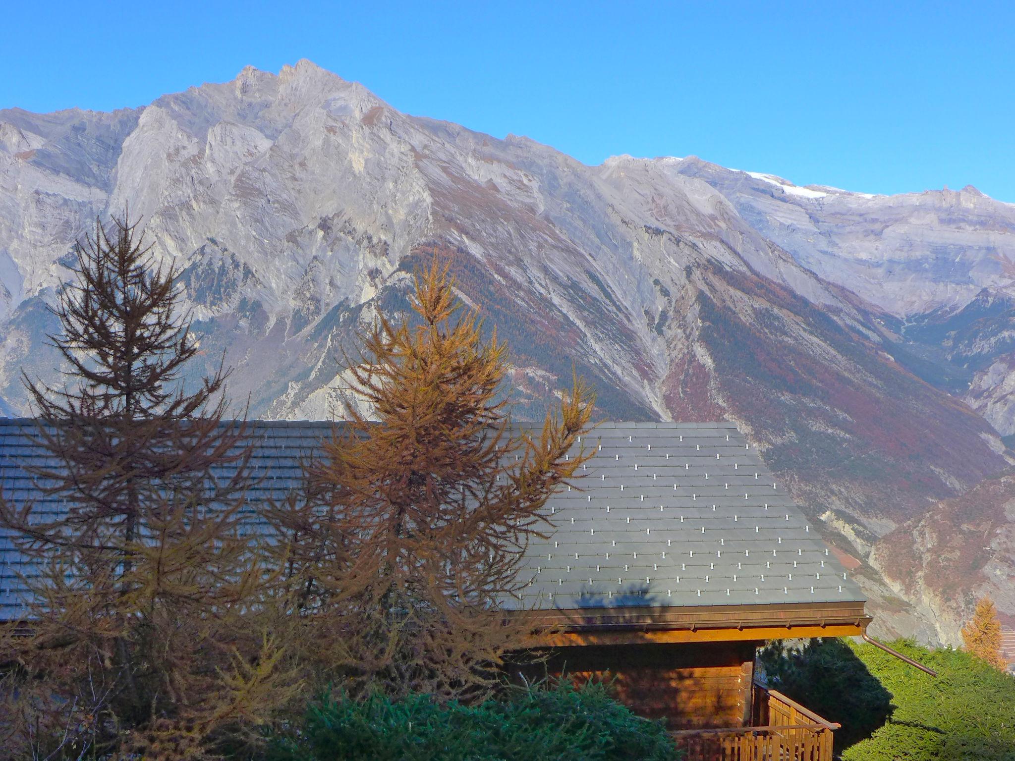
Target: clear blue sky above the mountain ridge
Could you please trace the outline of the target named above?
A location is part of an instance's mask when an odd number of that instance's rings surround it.
[[[149,7],[143,7],[143,6]],[[309,58],[586,163],[697,155],[1015,202],[1015,3],[15,3],[0,108],[111,110]]]

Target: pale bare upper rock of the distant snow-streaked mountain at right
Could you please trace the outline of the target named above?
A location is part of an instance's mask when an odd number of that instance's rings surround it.
[[[890,315],[961,307],[988,287],[1015,293],[1015,204],[975,188],[872,196],[696,158],[680,170],[721,191],[804,267]]]

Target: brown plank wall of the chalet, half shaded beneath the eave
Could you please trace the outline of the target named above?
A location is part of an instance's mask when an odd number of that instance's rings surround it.
[[[615,694],[635,713],[671,730],[745,727],[751,720],[754,650],[759,642],[558,647],[527,677],[568,674],[614,678]]]

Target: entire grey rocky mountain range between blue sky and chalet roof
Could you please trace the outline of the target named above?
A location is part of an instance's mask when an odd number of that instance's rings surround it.
[[[341,350],[404,309],[437,255],[512,346],[518,415],[541,414],[573,366],[606,418],[734,420],[843,552],[866,557],[1009,465],[983,417],[923,379],[941,341],[906,335],[918,314],[1012,289],[1015,212],[968,189],[868,197],[695,158],[586,166],[400,114],[308,61],[134,111],[4,111],[0,396],[15,410],[22,367],[55,376],[45,302],[74,239],[128,202],[180,272],[207,365],[225,353],[254,415],[340,411]],[[858,563],[886,625],[931,631]]]

